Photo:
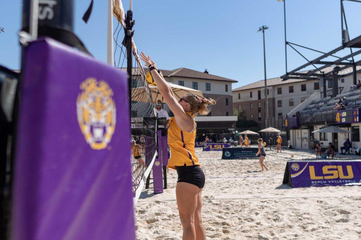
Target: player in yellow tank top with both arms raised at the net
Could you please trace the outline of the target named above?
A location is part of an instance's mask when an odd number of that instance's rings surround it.
[[[171,158],[168,166],[177,170],[175,188],[178,212],[183,226],[183,240],[205,240],[206,234],[201,217],[202,190],[205,177],[195,154],[195,114],[208,114],[209,106],[216,104],[210,98],[199,98],[188,93],[179,101],[167,82],[157,72],[156,65],[143,52],[140,58],[152,73],[158,91],[168,104],[174,117],[169,119],[168,144]]]

